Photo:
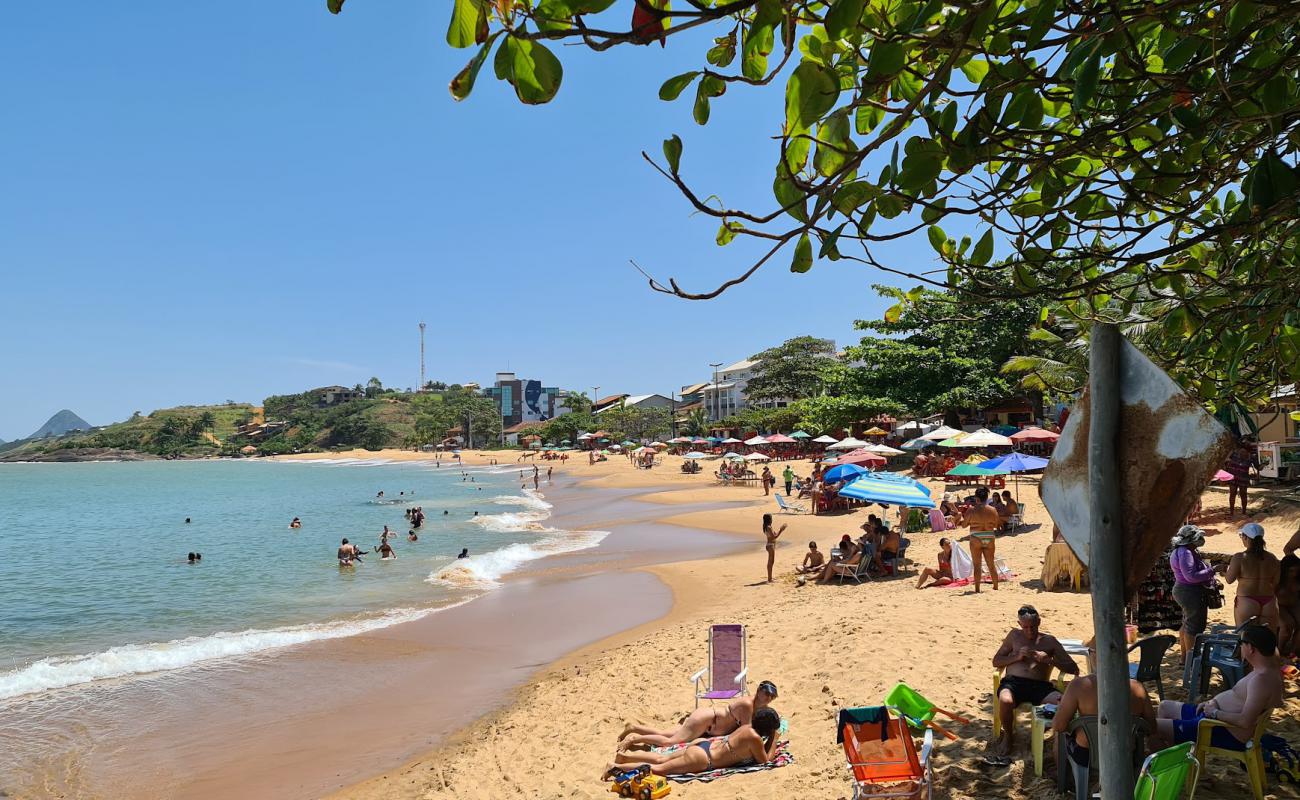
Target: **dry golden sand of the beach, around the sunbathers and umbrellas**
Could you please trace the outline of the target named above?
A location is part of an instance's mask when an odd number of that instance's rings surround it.
[[[428,458],[400,451],[358,455]],[[488,458],[504,463],[516,458],[468,451],[464,455],[465,463],[484,463]],[[575,455],[563,471],[586,487],[644,489],[638,500],[670,505],[745,501],[716,511],[682,513],[666,522],[750,537],[753,553],[646,567],[672,589],[673,605],[667,615],[564,657],[520,688],[506,708],[460,731],[438,749],[333,797],[607,797],[608,784],[599,775],[614,754],[624,722],[672,726],[692,710],[689,675],[703,666],[707,627],[720,622],[748,626],[750,680],[777,684],[780,697],[774,708],[789,722],[796,760],[775,770],[673,786],[675,796],[849,797],[852,784],[842,751],[835,741],[836,714],[842,706],[879,704],[900,680],[974,721],[970,726],[950,726],[961,739],[940,740],[936,748],[937,796],[1058,796],[1052,756],[1040,778],[1028,764],[1026,714],[1017,721],[1018,758],[1011,766],[989,767],[983,762],[992,731],[989,660],[1015,624],[1017,607],[1037,606],[1043,630],[1057,636],[1086,640],[1092,635],[1087,593],[1041,589],[1043,553],[1050,541],[1052,524],[1032,479],[1020,485],[1026,527],[998,540],[998,555],[1017,576],[1002,583],[997,592],[988,585],[979,594],[970,588],[916,591],[914,575],[863,585],[800,587],[793,572],[807,542],[818,541],[823,550],[829,550],[842,533],[857,532],[867,509],[824,516],[777,514],[777,523],[788,527],[777,546],[776,580],[767,584],[760,515],[777,509],[760,488],[716,485],[708,468],[699,475],[684,475],[675,457],[664,457],[651,471],[641,471],[621,457],[590,466],[585,454]],[[554,462],[540,463],[545,472]],[[807,462],[796,462],[796,471],[806,473]],[[1239,550],[1232,533],[1244,520],[1226,519],[1226,494],[1210,489],[1204,505],[1209,535],[1205,550],[1223,554]],[[1300,524],[1300,510],[1256,498],[1252,518],[1264,523],[1271,549],[1280,552]],[[965,531],[957,533],[965,536]],[[910,557],[919,566],[932,566],[940,536],[911,535]],[[1231,600],[1227,607],[1212,611],[1212,623],[1230,622]],[[1170,652],[1165,686],[1171,687],[1173,699],[1182,697],[1179,678],[1176,654]],[[1300,736],[1297,717],[1300,701],[1288,697],[1286,708],[1274,713],[1271,730],[1295,739]],[[1197,796],[1240,797],[1248,792],[1244,773],[1231,764],[1212,762],[1209,771],[1217,779],[1202,779]]]

